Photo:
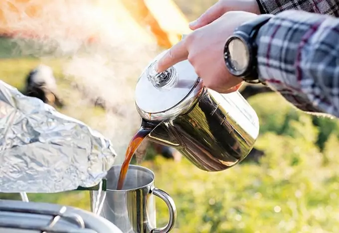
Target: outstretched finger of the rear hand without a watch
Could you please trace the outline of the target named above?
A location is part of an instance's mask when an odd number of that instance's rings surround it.
[[[224,9],[222,4],[219,2],[212,5],[209,9],[207,9],[198,19],[189,23],[189,28],[191,30],[198,29],[200,27],[206,26],[207,24],[213,22],[215,19],[219,18],[223,15]]]

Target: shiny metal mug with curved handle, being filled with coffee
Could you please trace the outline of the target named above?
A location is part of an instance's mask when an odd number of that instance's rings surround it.
[[[107,173],[106,198],[100,216],[109,220],[124,233],[167,233],[176,220],[174,201],[165,191],[154,186],[154,173],[145,167],[129,165],[122,190],[116,190],[121,165],[114,165]],[[97,203],[99,191],[91,191],[91,207]],[[169,223],[156,228],[155,196],[169,208]]]

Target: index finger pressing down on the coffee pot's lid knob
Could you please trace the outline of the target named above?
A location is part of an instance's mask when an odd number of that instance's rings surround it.
[[[171,47],[162,58],[158,60],[156,66],[158,73],[161,73],[176,63],[187,59],[188,50],[184,41],[184,39],[180,40],[177,44]]]

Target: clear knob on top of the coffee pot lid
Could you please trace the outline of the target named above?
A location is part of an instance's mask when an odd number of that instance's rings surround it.
[[[155,88],[169,89],[174,86],[177,79],[177,74],[174,67],[170,67],[162,73],[158,73],[155,69],[157,61],[153,62],[148,68],[147,78]]]

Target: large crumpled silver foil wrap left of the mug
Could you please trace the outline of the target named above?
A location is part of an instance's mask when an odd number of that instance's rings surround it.
[[[99,132],[0,81],[0,192],[93,187],[115,157]]]

